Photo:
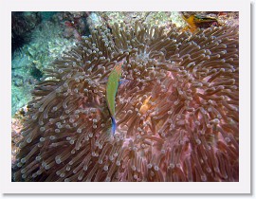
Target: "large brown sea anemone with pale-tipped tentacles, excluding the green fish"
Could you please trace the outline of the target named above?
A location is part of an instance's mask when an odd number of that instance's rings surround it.
[[[91,28],[35,86],[13,180],[238,181],[238,45],[238,27]]]

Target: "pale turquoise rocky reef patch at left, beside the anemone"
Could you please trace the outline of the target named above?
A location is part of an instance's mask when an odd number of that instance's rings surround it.
[[[25,22],[24,22],[25,23]],[[13,27],[14,28],[14,27]],[[73,45],[74,39],[63,37],[64,28],[57,17],[37,25],[29,32],[29,43],[12,52],[11,60],[11,115],[31,100],[30,90],[64,50]]]

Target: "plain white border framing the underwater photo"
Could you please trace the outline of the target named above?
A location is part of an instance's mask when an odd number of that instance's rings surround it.
[[[11,182],[11,11],[239,11],[239,182]],[[4,193],[250,193],[250,2],[230,0],[3,0],[1,2],[1,183]]]

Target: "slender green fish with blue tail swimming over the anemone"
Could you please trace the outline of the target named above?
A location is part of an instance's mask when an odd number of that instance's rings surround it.
[[[113,70],[111,71],[107,85],[106,85],[106,101],[107,101],[107,107],[110,113],[110,117],[112,120],[112,134],[115,134],[117,123],[115,118],[115,106],[116,106],[116,95],[119,88],[119,81],[121,77],[121,71],[122,71],[123,62],[118,63]]]

